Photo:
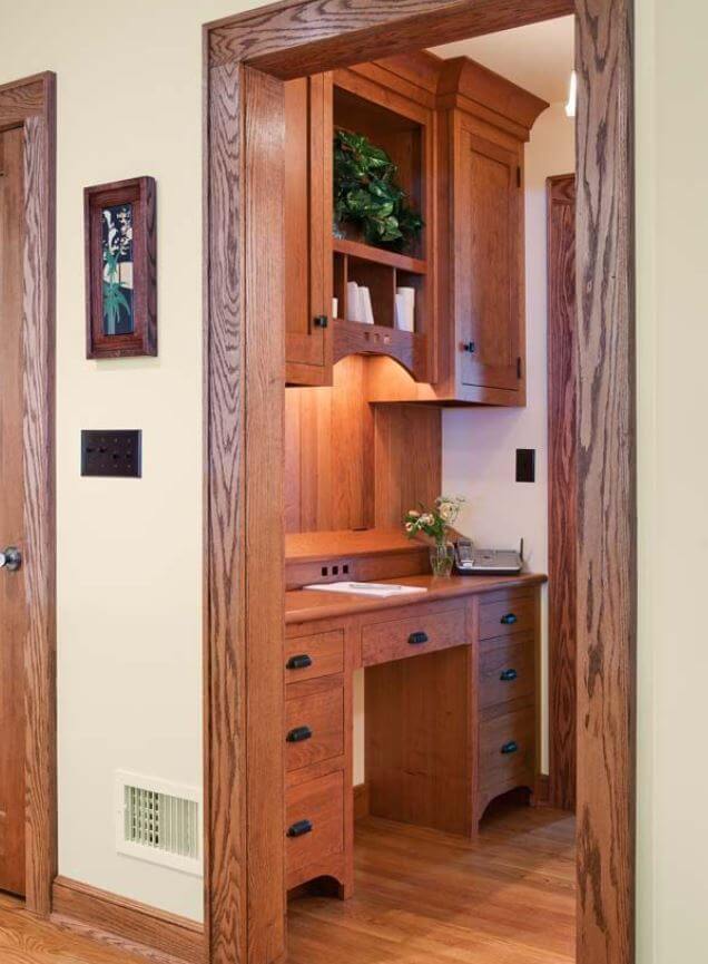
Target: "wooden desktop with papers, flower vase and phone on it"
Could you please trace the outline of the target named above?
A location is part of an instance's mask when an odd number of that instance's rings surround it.
[[[522,573],[520,576],[451,576],[441,580],[431,575],[423,575],[403,576],[397,580],[377,580],[376,582],[424,586],[427,592],[381,598],[380,596],[360,596],[353,593],[293,590],[285,593],[285,622],[305,623],[311,620],[332,620],[374,610],[399,608],[415,603],[445,600],[452,596],[469,596],[474,593],[489,593],[513,586],[540,585],[547,582],[547,576]]]

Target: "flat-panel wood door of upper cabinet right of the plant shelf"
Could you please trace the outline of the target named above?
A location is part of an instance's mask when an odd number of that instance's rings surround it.
[[[455,314],[463,386],[522,387],[519,155],[458,128]]]

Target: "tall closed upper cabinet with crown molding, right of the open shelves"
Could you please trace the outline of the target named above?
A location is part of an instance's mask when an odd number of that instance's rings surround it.
[[[524,144],[545,101],[468,58],[437,71],[437,379],[372,370],[372,400],[525,405]]]

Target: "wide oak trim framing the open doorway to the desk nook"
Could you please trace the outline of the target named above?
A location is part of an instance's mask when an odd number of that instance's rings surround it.
[[[284,121],[277,86],[265,79],[254,90],[255,113],[244,110],[244,70],[289,79],[573,10],[582,184],[578,964],[635,960],[631,2],[286,0],[205,30],[205,887],[212,964],[285,957],[283,824],[276,832],[283,747],[268,740],[282,733],[284,712],[277,158]],[[256,140],[265,163],[248,154],[254,118],[263,127]]]

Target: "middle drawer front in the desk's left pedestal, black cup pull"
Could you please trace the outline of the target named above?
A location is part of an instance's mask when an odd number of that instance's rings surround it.
[[[286,701],[285,767],[288,772],[344,753],[344,687],[341,678],[335,679],[340,682],[334,687]]]

